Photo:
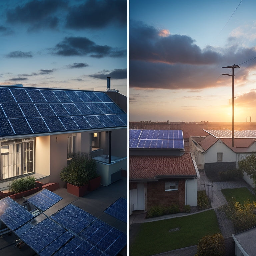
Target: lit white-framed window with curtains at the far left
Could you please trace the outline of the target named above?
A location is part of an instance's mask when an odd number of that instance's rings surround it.
[[[1,142],[0,180],[34,172],[34,139]]]

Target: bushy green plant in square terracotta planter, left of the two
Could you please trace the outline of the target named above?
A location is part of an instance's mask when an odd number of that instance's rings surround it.
[[[88,191],[87,159],[88,154],[76,152],[60,172],[60,179],[67,182],[67,191],[78,197],[84,196]]]

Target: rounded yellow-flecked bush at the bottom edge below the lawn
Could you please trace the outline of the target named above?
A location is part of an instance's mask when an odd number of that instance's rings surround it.
[[[197,245],[197,256],[224,256],[225,240],[218,233],[201,238]]]

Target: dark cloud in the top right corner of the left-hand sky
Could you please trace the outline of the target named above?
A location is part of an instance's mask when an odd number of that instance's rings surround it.
[[[110,23],[126,25],[126,0],[88,0],[70,9],[66,26],[72,29],[103,28]]]

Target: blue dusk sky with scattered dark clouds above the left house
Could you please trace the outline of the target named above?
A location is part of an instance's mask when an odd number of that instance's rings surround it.
[[[127,95],[127,1],[1,0],[0,84]]]

